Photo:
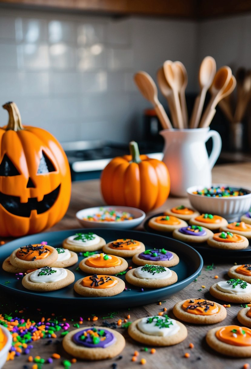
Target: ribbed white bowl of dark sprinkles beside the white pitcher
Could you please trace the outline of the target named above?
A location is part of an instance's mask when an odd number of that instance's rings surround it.
[[[230,186],[229,184],[213,183],[213,187],[230,187],[231,189],[239,190],[240,187]],[[188,199],[199,213],[208,213],[220,215],[229,223],[239,221],[241,215],[247,213],[251,208],[251,189],[243,188],[247,191],[243,196],[229,196],[229,197],[208,197],[194,194],[193,192],[203,190],[205,186],[188,187]]]

